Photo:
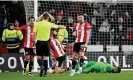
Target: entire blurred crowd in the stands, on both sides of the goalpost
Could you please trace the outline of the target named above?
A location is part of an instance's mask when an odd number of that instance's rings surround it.
[[[68,43],[75,40],[72,33],[77,14],[83,14],[91,25],[89,44],[133,44],[132,3],[38,1],[38,16],[44,11],[55,17],[56,24],[67,26]],[[15,23],[16,26],[26,24],[25,12],[23,1],[0,2],[0,39],[7,23]]]

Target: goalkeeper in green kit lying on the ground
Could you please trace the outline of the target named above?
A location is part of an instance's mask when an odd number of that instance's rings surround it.
[[[76,69],[79,67],[77,63]],[[82,67],[82,73],[120,73],[121,68],[112,66],[108,63],[88,61],[86,65]],[[80,74],[80,73],[77,73]]]

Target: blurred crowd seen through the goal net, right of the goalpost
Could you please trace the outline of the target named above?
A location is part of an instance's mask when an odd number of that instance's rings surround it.
[[[67,26],[69,42],[73,42],[73,24],[77,14],[84,14],[91,25],[90,44],[132,45],[132,3],[85,3],[39,1],[39,14],[49,11],[57,24]]]

